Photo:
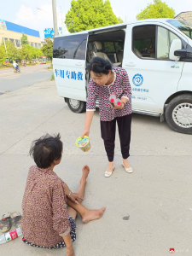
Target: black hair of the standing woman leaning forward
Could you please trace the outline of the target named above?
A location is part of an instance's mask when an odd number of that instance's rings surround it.
[[[102,59],[100,57],[94,57],[90,64],[87,66],[87,70],[93,73],[104,73],[108,74],[109,70],[112,71],[112,63],[110,63],[108,60]]]

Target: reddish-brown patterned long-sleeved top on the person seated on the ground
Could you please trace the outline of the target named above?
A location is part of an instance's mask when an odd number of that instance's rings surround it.
[[[26,241],[53,247],[71,231],[63,183],[50,169],[30,168],[22,201],[21,230]]]

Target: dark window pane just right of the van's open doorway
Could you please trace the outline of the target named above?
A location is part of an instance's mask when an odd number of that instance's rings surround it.
[[[133,51],[140,58],[155,58],[155,27],[136,26],[133,28]]]

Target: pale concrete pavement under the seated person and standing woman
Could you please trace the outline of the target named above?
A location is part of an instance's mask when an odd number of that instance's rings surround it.
[[[82,224],[77,218],[76,256],[192,255],[192,137],[171,131],[154,117],[133,114],[131,157],[134,172],[120,166],[116,140],[113,176],[104,177],[107,157],[96,111],[91,150],[83,153],[75,140],[84,129],[85,113],[72,113],[57,95],[55,82],[34,84],[4,94],[0,99],[0,214],[21,212],[26,176],[32,159],[32,140],[46,132],[61,132],[63,158],[55,172],[74,191],[81,168],[90,166],[84,196],[86,207],[107,207],[102,219]],[[65,255],[26,246],[21,237],[0,248],[2,255]]]

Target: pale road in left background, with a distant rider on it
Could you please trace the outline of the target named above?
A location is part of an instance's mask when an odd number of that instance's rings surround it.
[[[0,70],[0,95],[5,91],[18,90],[48,80],[52,70],[47,69],[50,64],[30,67],[20,67],[21,73],[13,73],[12,68]]]

